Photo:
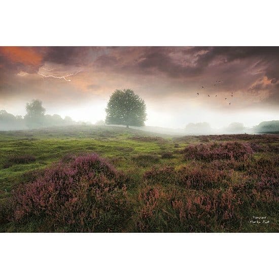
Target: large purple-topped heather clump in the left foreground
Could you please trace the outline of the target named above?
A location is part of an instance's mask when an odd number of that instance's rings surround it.
[[[13,192],[13,219],[44,220],[44,231],[121,231],[130,206],[120,173],[96,154],[46,169]]]

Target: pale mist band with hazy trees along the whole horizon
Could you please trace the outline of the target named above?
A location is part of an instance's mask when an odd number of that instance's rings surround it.
[[[30,122],[31,121],[31,122]],[[50,115],[44,113],[43,119],[38,123],[38,120],[29,120],[28,115],[25,116],[16,115],[8,113],[5,110],[0,111],[0,131],[9,131],[9,130],[27,130],[34,128],[43,128],[43,127],[57,127],[57,126],[71,126],[71,125],[113,125],[106,124],[104,120],[98,120],[95,123],[85,122],[85,121],[75,121],[69,116],[62,118],[58,114]],[[124,125],[115,125],[123,126]],[[234,133],[278,133],[279,132],[279,121],[264,121],[255,125],[253,127],[246,127],[241,122],[232,122],[227,126],[220,128],[214,128],[208,122],[197,122],[197,123],[188,123],[184,128],[173,128],[173,127],[159,127],[159,126],[130,126],[132,129],[140,129],[144,131],[170,134],[170,135],[202,135],[202,134],[234,134]]]

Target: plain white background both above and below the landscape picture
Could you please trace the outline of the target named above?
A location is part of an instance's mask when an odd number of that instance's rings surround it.
[[[278,46],[275,1],[2,1],[2,46]],[[1,73],[0,73],[1,74]],[[1,234],[1,278],[277,278],[278,234]]]

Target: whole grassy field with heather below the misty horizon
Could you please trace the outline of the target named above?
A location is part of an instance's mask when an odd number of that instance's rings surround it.
[[[0,231],[277,232],[278,150],[272,134],[0,132]]]

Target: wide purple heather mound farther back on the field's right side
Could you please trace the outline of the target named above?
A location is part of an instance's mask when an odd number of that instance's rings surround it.
[[[189,145],[183,150],[185,159],[204,161],[222,159],[247,159],[253,154],[253,150],[247,143],[227,142],[213,144]]]

